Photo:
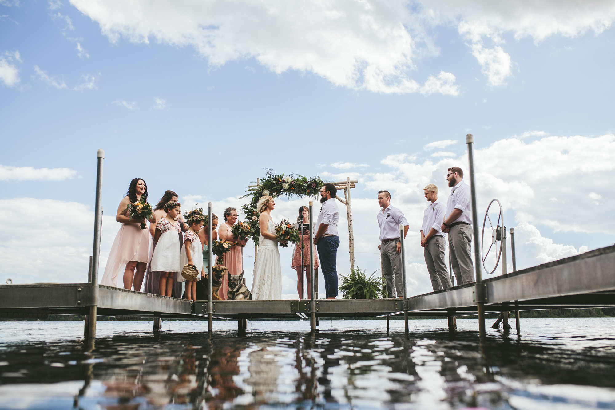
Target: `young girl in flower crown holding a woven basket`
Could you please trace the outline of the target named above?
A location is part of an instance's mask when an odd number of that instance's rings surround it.
[[[202,209],[196,209],[184,214],[189,229],[186,231],[184,245],[181,247],[180,266],[191,265],[197,272],[203,269],[203,248],[198,232],[205,223]],[[196,279],[187,280],[183,275],[177,275],[177,280],[186,282],[186,299],[196,301]]]

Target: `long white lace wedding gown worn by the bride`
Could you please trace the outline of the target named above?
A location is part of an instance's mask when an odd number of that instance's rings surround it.
[[[276,234],[276,224],[271,219],[267,231]],[[277,241],[258,237],[258,253],[254,263],[253,301],[279,301],[282,299],[282,268]]]

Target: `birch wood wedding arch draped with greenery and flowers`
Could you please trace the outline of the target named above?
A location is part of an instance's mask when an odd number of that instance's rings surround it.
[[[258,210],[256,204],[263,195],[271,195],[274,198],[282,195],[288,195],[290,198],[292,195],[297,197],[318,197],[320,188],[327,183],[322,181],[319,176],[313,176],[307,178],[302,175],[297,175],[298,178],[293,178],[290,175],[276,175],[273,170],[266,170],[268,178],[256,178],[255,185],[249,185],[245,197],[252,196],[252,200],[246,203],[242,209],[244,210],[245,217],[248,223],[252,227],[252,240],[254,242],[254,260],[256,261],[256,254],[258,253],[258,235],[260,235],[260,228],[258,227]],[[344,191],[344,198],[336,195],[336,199],[346,205],[346,218],[348,221],[348,240],[349,240],[349,257],[351,269],[354,269],[354,232],[352,231],[352,211],[351,211],[351,195],[350,190],[356,186],[358,181],[351,181],[350,178],[346,178],[346,181],[335,182],[333,185],[338,191]]]

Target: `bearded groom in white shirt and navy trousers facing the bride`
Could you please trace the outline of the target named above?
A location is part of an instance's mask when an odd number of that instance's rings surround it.
[[[320,213],[316,219],[318,230],[314,235],[314,245],[318,245],[318,257],[320,269],[325,277],[325,292],[327,299],[335,299],[338,296],[338,204],[335,196],[338,190],[333,184],[325,184],[320,189]]]

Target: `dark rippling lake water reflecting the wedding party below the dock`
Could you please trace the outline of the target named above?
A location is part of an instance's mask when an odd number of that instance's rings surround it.
[[[491,325],[493,320],[488,320]],[[514,321],[511,321],[514,327]],[[0,322],[1,409],[615,409],[615,318]]]

